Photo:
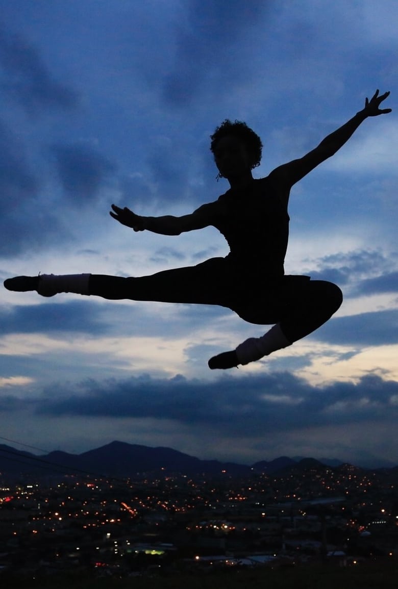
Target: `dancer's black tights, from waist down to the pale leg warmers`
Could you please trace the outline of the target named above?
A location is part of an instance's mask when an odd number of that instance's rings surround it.
[[[137,278],[92,274],[90,294],[111,300],[220,305],[249,323],[279,323],[291,343],[323,325],[343,301],[338,286],[308,276],[284,276],[271,286],[265,278],[262,287],[248,286],[222,261],[213,258],[198,266]]]

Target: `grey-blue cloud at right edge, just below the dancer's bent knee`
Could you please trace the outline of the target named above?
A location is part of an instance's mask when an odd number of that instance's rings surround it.
[[[398,343],[398,310],[334,317],[320,327],[313,337],[343,345],[392,345]]]

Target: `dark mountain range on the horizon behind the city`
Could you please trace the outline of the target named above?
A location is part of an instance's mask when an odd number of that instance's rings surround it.
[[[15,475],[96,475],[97,477],[137,477],[144,473],[182,473],[187,475],[219,475],[223,472],[232,476],[245,476],[253,472],[274,474],[285,469],[333,468],[343,464],[337,459],[288,458],[280,456],[272,461],[255,462],[250,466],[234,462],[201,460],[183,454],[172,448],[151,448],[137,444],[114,441],[82,454],[54,451],[35,455],[0,444],[0,473],[3,478]],[[380,468],[392,468],[393,464],[380,464]],[[398,468],[398,467],[396,467]]]

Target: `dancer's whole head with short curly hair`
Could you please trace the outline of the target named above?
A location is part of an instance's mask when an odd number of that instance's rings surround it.
[[[261,139],[246,123],[226,119],[210,139],[220,176],[242,176],[260,165]]]

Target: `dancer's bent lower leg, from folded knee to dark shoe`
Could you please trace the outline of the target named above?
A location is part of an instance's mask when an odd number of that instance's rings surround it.
[[[209,368],[232,368],[238,364],[268,356],[276,350],[287,348],[292,343],[312,333],[337,311],[343,302],[338,286],[323,280],[313,280],[287,306],[277,325],[262,337],[250,337],[231,352],[224,352],[209,360]]]

